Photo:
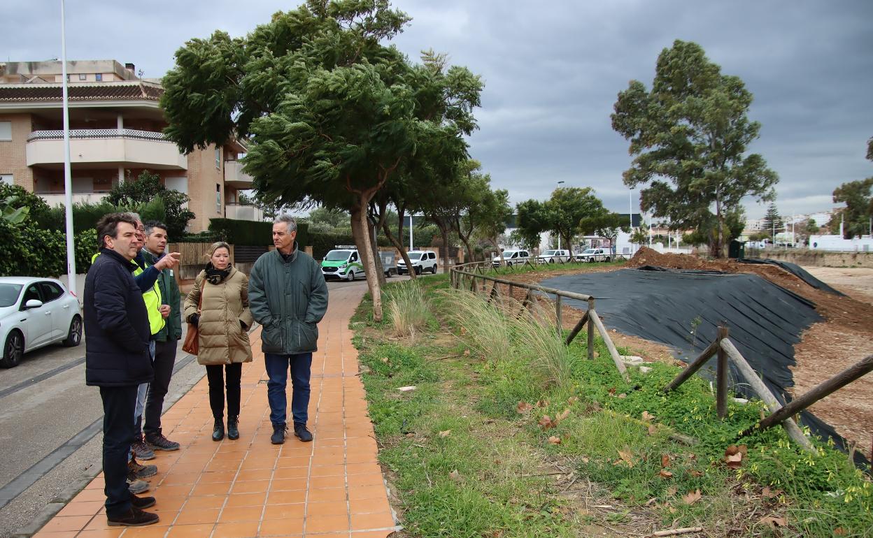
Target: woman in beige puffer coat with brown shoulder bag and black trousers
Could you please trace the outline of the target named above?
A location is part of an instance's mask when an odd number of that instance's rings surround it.
[[[239,439],[240,379],[243,363],[251,362],[248,330],[254,322],[249,310],[249,277],[230,265],[227,243],[217,242],[210,247],[210,262],[196,276],[194,288],[185,297],[185,319],[197,327],[197,362],[206,366],[210,383],[210,407],[215,417],[212,440],[224,437],[225,385],[227,438]]]

